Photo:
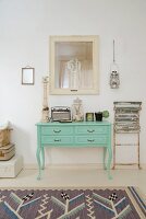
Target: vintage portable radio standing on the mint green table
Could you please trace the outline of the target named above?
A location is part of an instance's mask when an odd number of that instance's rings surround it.
[[[71,108],[68,106],[54,106],[51,107],[52,120],[71,120]]]

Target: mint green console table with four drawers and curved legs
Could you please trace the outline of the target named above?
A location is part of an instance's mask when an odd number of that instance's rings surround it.
[[[45,147],[66,148],[104,148],[104,168],[110,175],[112,159],[111,124],[108,122],[81,122],[81,123],[38,123],[37,126],[37,162],[38,180],[45,168]],[[108,159],[106,163],[106,153]]]

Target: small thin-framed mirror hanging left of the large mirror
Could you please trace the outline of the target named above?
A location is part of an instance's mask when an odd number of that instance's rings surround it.
[[[35,69],[32,67],[22,68],[22,84],[33,85],[35,80]]]

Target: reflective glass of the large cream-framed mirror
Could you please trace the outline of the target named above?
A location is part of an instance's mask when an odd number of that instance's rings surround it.
[[[56,88],[93,88],[93,43],[56,44]]]

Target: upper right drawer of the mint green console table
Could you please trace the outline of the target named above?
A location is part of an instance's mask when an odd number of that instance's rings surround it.
[[[75,127],[76,135],[98,135],[98,134],[108,134],[108,126],[77,126]]]

